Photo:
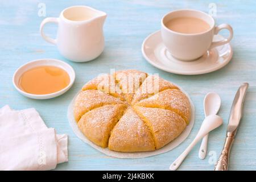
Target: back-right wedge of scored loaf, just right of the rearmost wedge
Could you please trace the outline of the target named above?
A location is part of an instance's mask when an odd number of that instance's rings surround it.
[[[134,94],[133,104],[145,98],[154,96],[166,89],[179,89],[171,82],[156,75],[149,75],[142,83],[141,87]]]

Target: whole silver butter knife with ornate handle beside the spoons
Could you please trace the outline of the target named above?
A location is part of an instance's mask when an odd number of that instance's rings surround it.
[[[236,96],[234,98],[230,115],[228,129],[226,132],[226,140],[224,148],[221,152],[220,158],[216,163],[214,171],[227,171],[229,166],[229,153],[232,147],[234,137],[236,137],[237,128],[239,126],[240,120],[243,115],[243,101],[245,100],[246,90],[248,88],[248,83],[243,83],[237,90]]]

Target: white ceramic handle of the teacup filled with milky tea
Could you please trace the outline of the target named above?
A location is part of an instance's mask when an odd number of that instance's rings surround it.
[[[212,42],[212,45],[210,46],[209,49],[212,49],[216,46],[221,46],[221,45],[224,45],[226,43],[229,43],[230,40],[233,38],[233,28],[229,24],[226,24],[226,23],[220,24],[219,26],[215,27],[214,28],[214,35],[217,35],[218,32],[220,32],[222,29],[228,29],[229,38],[224,39],[224,40],[220,40],[220,41],[217,41],[217,42]]]

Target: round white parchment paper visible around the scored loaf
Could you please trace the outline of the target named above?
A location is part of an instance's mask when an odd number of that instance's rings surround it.
[[[166,146],[160,148],[159,150],[148,151],[148,152],[116,152],[116,151],[109,150],[108,148],[102,148],[100,146],[97,146],[93,142],[90,142],[90,140],[87,139],[84,136],[84,134],[82,134],[82,132],[80,131],[80,129],[77,126],[77,123],[75,121],[74,115],[73,115],[73,105],[75,102],[75,98],[77,97],[77,95],[79,93],[76,94],[76,96],[71,101],[71,104],[69,104],[69,106],[68,106],[69,125],[72,127],[72,130],[77,135],[77,137],[80,138],[82,141],[89,144],[91,147],[95,148],[96,150],[98,150],[106,155],[113,156],[115,158],[146,158],[148,156],[163,154],[164,152],[171,151],[175,147],[179,146],[179,144],[182,143],[188,137],[189,133],[192,130],[194,122],[195,122],[195,107],[193,105],[193,102],[192,102],[191,98],[188,96],[188,94],[186,92],[184,92],[184,90],[182,90],[182,89],[180,89],[180,90],[183,93],[185,93],[187,95],[187,97],[189,98],[189,102],[191,104],[191,121],[190,121],[189,125],[185,128],[185,130],[179,135],[179,137],[177,137],[172,142],[168,143]]]

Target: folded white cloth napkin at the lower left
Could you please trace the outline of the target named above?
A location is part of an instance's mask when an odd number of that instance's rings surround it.
[[[68,136],[48,128],[34,109],[0,109],[0,170],[49,170],[68,161]]]

